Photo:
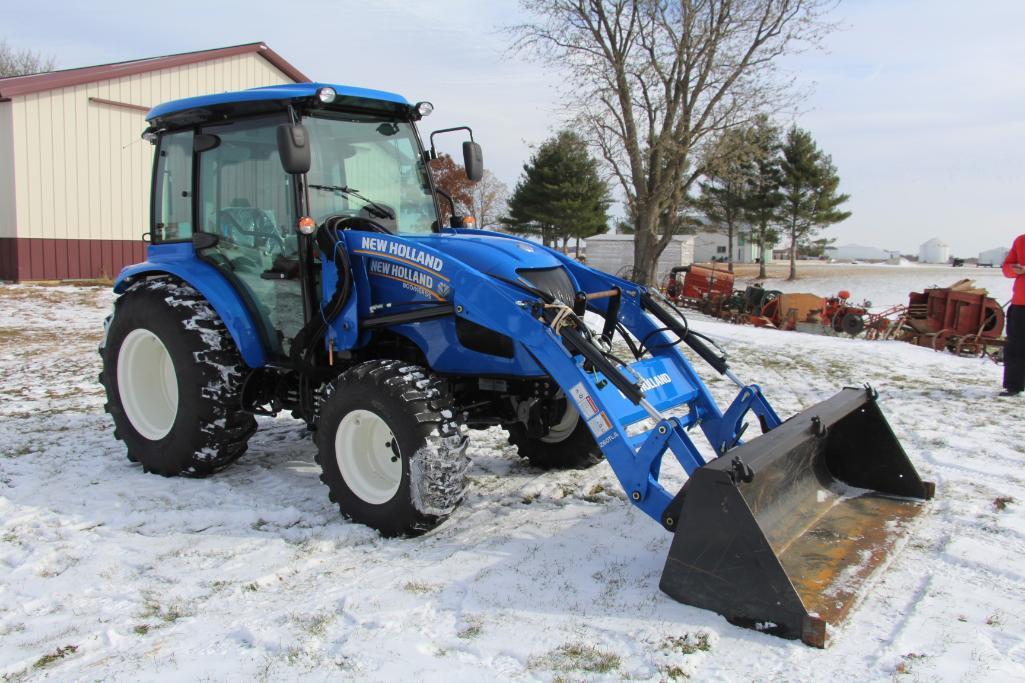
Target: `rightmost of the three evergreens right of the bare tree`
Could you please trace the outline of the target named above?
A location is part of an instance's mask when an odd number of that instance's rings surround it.
[[[848,195],[837,194],[839,176],[832,160],[815,145],[811,133],[792,126],[783,146],[781,218],[789,239],[790,275],[797,279],[797,247],[821,228],[846,220],[850,211],[838,206]]]

